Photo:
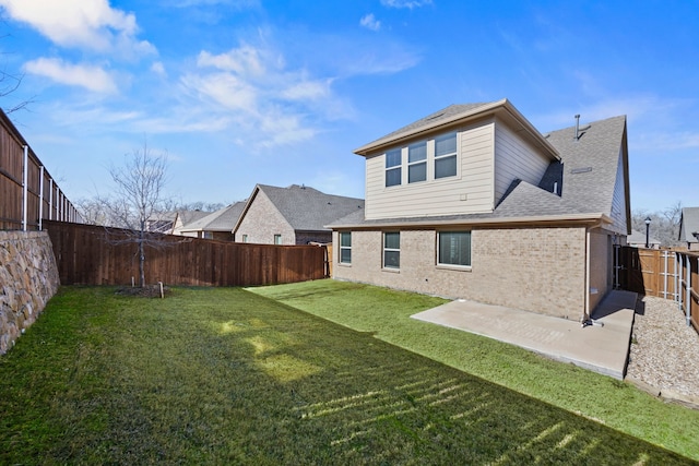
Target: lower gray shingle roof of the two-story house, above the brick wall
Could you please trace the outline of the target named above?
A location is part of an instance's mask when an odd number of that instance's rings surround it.
[[[516,180],[493,213],[365,220],[364,213],[340,219],[333,228],[379,225],[428,225],[449,223],[496,223],[594,220],[611,223],[618,169],[626,170],[626,117],[614,117],[576,128],[554,131],[546,136],[560,154],[538,186]],[[626,180],[628,183],[628,179]],[[554,183],[560,195],[555,194]],[[628,190],[627,190],[628,191]],[[626,199],[628,218],[629,200]]]

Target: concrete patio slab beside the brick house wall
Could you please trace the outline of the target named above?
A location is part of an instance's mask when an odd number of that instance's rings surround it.
[[[621,380],[636,298],[635,292],[611,291],[593,313],[602,326],[582,327],[578,321],[466,300],[451,301],[412,318],[495,338]]]

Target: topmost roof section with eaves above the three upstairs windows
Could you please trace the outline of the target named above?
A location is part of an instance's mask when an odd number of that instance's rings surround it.
[[[552,159],[558,158],[556,150],[506,98],[489,103],[450,105],[447,108],[379,138],[369,144],[365,144],[356,148],[354,153],[366,156],[378,153],[379,151],[384,151],[396,144],[402,144],[408,140],[423,138],[427,133],[447,131],[449,128],[458,128],[464,123],[493,116],[497,116],[500,120],[514,128],[522,138],[541,148],[542,152]]]

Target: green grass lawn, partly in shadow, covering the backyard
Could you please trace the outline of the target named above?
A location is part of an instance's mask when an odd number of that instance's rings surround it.
[[[61,288],[0,357],[0,464],[691,463],[525,395],[535,375],[511,390],[433,360],[490,358],[499,379],[538,363],[548,368],[538,374],[572,371],[592,390],[639,396],[507,346],[460,343],[464,333],[413,327],[407,315],[434,298],[325,280],[256,292],[176,288],[164,300],[114,291]],[[343,325],[259,294],[313,313],[330,307]],[[406,351],[401,338],[438,357]],[[694,419],[696,435],[696,416],[641,399],[652,413]],[[674,422],[655,419],[671,426],[657,426],[666,434]],[[690,446],[673,444],[686,455]]]

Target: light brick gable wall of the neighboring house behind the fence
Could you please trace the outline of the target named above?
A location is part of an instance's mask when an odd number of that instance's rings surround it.
[[[242,242],[242,235],[248,236],[248,242],[258,244],[274,244],[274,235],[282,235],[282,244],[296,244],[294,229],[262,191],[244,214],[236,231],[237,242]]]

